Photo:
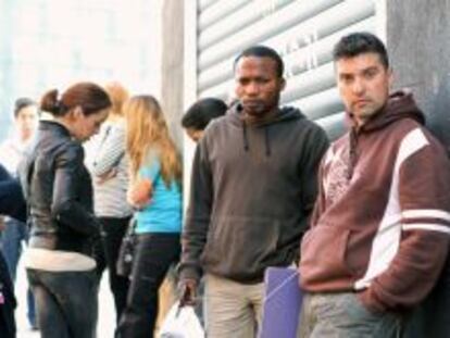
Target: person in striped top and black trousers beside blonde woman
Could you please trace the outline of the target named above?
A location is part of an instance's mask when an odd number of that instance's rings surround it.
[[[101,242],[96,250],[97,272],[101,277],[105,265],[110,288],[114,297],[116,322],[125,308],[128,278],[116,273],[116,261],[122,238],[132,217],[126,201],[128,188],[128,160],[125,155],[125,117],[123,104],[128,91],[118,83],[104,89],[112,101],[107,122],[96,137],[92,162],[88,165],[93,180],[93,206],[101,226]]]

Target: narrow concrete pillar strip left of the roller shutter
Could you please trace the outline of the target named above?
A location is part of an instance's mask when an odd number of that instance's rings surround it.
[[[161,104],[171,134],[183,147],[184,1],[164,0],[162,9]]]

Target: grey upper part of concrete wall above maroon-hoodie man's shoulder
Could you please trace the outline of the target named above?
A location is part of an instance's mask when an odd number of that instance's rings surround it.
[[[450,150],[450,0],[388,0],[386,38],[395,86],[413,90]]]

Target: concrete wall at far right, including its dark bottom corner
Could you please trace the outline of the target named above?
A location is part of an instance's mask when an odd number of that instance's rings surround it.
[[[397,88],[410,87],[450,150],[450,0],[387,0],[387,46]],[[405,338],[449,337],[450,260],[413,314]]]

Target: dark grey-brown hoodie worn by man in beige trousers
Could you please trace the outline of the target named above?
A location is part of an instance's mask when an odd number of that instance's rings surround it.
[[[268,266],[298,258],[328,147],[325,132],[296,109],[248,125],[238,109],[214,120],[192,166],[182,278],[202,268],[258,283]]]

